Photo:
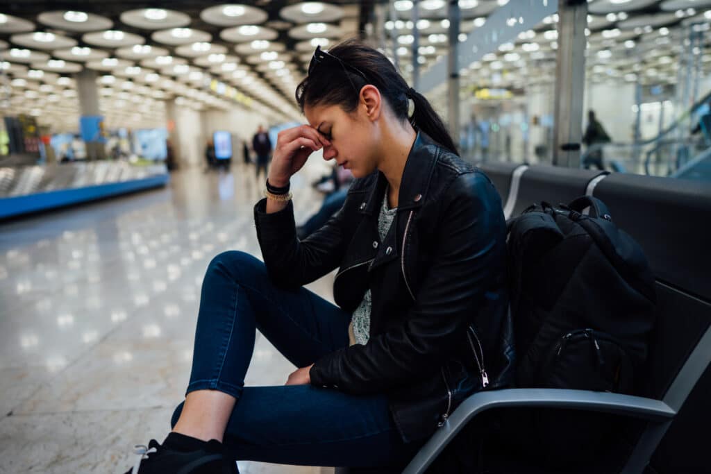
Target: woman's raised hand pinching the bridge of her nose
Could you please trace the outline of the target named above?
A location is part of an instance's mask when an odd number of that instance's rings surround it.
[[[311,153],[330,144],[310,125],[280,131],[269,166],[269,183],[277,188],[286,186],[289,178],[304,166]]]

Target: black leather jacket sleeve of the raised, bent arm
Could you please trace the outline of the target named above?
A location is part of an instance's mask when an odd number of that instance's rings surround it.
[[[279,212],[267,214],[267,200],[260,200],[255,205],[255,225],[269,279],[281,288],[297,289],[335,269],[348,244],[344,210],[352,202],[348,196],[343,208],[321,229],[299,241],[292,202]]]

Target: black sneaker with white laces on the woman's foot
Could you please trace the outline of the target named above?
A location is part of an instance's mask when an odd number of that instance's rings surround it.
[[[239,474],[237,463],[225,458],[222,443],[214,439],[188,452],[174,451],[151,439],[148,446],[135,446],[134,453],[140,457],[125,474]]]

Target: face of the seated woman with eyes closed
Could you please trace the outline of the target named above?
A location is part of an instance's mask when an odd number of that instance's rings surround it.
[[[335,159],[343,168],[351,170],[355,178],[375,171],[378,129],[368,118],[365,104],[361,102],[351,113],[339,105],[306,106],[304,115],[314,129],[331,141],[324,146],[324,160]]]

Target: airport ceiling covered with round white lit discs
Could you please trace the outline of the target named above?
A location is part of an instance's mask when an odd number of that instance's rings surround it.
[[[496,9],[515,13],[518,0],[459,0],[461,36],[485,28]],[[7,113],[75,122],[73,73],[97,70],[107,122],[164,121],[165,99],[194,109],[236,102],[275,122],[299,119],[294,89],[316,45],[359,36],[387,2],[23,0],[0,7],[0,68],[9,79]],[[589,1],[589,80],[673,84],[690,28],[702,41],[701,74],[711,67],[711,0]],[[385,53],[412,71],[412,1],[397,0],[385,22]],[[388,18],[390,19],[390,18]],[[464,68],[462,85],[525,87],[555,74],[555,16]],[[447,53],[447,2],[420,0],[418,60],[426,71]],[[375,34],[383,32],[375,31]],[[461,39],[461,38],[460,38]],[[652,75],[648,72],[653,72]],[[492,80],[497,78],[497,80]],[[227,87],[215,90],[215,82]],[[440,89],[444,90],[446,85]],[[237,95],[238,93],[238,95]],[[0,99],[4,99],[0,97]],[[140,114],[139,114],[140,112]],[[69,117],[69,118],[68,118]],[[73,125],[74,126],[74,125]]]

